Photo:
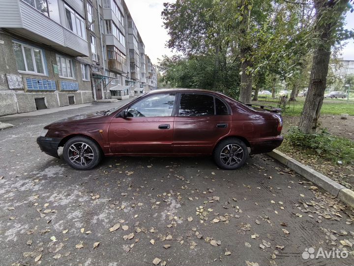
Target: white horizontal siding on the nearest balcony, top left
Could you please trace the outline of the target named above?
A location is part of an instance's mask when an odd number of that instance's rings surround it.
[[[89,43],[21,0],[0,0],[0,28],[72,56],[89,56]]]

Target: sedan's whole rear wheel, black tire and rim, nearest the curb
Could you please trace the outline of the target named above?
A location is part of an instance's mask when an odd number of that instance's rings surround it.
[[[235,156],[230,156],[231,152]],[[248,149],[246,144],[238,138],[221,140],[213,152],[215,164],[222,169],[235,170],[246,163]],[[237,158],[237,160],[236,160]]]

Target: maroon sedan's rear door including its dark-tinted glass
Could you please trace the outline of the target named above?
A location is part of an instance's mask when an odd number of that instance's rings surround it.
[[[173,151],[210,154],[214,143],[231,128],[231,110],[208,93],[180,93],[174,122]]]

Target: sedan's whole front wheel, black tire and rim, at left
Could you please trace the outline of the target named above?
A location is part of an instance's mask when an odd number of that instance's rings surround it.
[[[76,136],[66,141],[63,148],[65,162],[77,170],[89,170],[102,159],[101,148],[92,139]]]

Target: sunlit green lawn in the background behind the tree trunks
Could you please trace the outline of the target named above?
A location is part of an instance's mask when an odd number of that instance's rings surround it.
[[[279,99],[265,99],[258,98],[258,101],[254,103],[264,104],[269,106],[277,106]],[[295,102],[288,102],[285,112],[283,114],[287,115],[300,115],[305,98],[296,98]],[[347,101],[346,99],[324,99],[322,108],[322,114],[349,114],[354,115],[354,100]]]

